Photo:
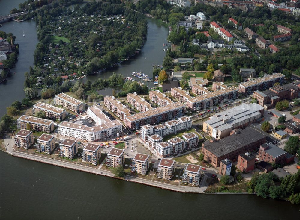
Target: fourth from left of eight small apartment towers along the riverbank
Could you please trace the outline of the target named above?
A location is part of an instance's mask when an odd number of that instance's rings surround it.
[[[101,157],[101,147],[99,144],[88,143],[81,153],[82,162],[88,162],[97,165]]]

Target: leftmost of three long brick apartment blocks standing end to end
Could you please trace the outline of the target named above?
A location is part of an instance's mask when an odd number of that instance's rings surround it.
[[[155,125],[175,117],[180,117],[185,114],[185,106],[180,102],[167,104],[157,107],[153,110],[148,110],[143,113],[137,113],[125,117],[125,125],[130,130],[140,129],[143,125]]]

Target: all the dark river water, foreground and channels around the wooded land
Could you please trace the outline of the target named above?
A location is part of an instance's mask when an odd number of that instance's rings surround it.
[[[0,15],[8,14],[23,0],[0,1]],[[3,7],[4,6],[4,7]],[[4,22],[0,30],[16,35],[20,44],[16,67],[0,84],[0,115],[14,100],[24,97],[24,72],[33,65],[37,44],[33,20]],[[142,53],[105,73],[82,81],[124,76],[161,64],[167,28],[148,20],[148,37]],[[23,30],[26,37],[23,37]],[[111,88],[100,94],[110,95]],[[0,219],[298,219],[300,207],[255,195],[182,194],[128,183],[108,177],[23,160],[0,151]]]

